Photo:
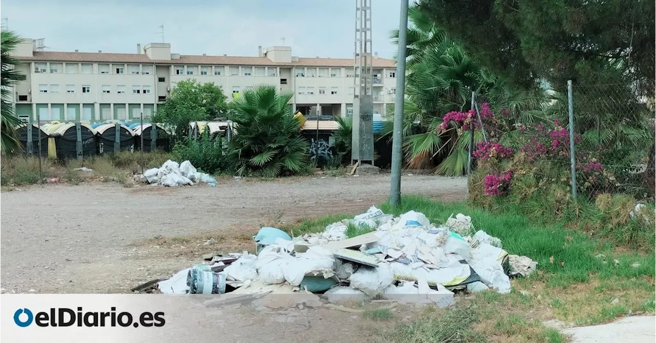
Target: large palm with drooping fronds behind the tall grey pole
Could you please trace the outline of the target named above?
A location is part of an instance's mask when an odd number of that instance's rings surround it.
[[[543,96],[510,87],[501,77],[482,68],[458,41],[448,37],[418,6],[408,10],[408,62],[406,99],[403,108],[403,147],[411,168],[424,168],[438,161],[436,172],[461,175],[466,167],[469,132],[455,129],[438,132],[442,116],[449,111],[466,111],[472,92],[485,94],[496,108],[508,108],[514,115],[527,115],[539,108]],[[398,43],[398,30],[392,32]],[[537,107],[536,107],[537,106]],[[394,111],[394,108],[388,108]],[[392,124],[381,136],[392,132]],[[475,142],[482,140],[476,132]]]

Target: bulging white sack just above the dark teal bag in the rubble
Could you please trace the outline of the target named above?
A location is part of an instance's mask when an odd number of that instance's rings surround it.
[[[283,267],[285,280],[293,286],[300,285],[305,275],[309,272],[333,270],[335,258],[333,252],[323,247],[310,247],[308,251],[297,254],[288,260]]]

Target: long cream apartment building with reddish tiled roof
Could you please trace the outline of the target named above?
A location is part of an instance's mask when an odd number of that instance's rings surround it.
[[[24,121],[137,121],[157,111],[179,81],[197,79],[222,87],[228,99],[255,85],[293,93],[305,115],[353,113],[354,60],[299,58],[291,47],[258,47],[258,56],[192,56],[171,53],[169,43],[137,45],[136,53],[37,50],[24,39],[14,50],[26,75],[12,103]],[[374,112],[394,103],[396,64],[373,58]]]

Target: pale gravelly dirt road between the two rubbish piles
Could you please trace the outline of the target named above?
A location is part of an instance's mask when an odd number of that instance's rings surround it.
[[[216,188],[94,183],[3,192],[0,293],[127,292],[148,279],[168,277],[207,252],[199,242],[167,237],[213,232],[224,235],[215,249],[224,241],[230,245],[231,238],[241,239],[232,247],[243,247],[244,237],[271,220],[361,212],[386,199],[389,181],[382,174],[226,180]],[[466,180],[404,176],[402,192],[458,200],[464,198]],[[246,241],[250,248],[252,241]]]

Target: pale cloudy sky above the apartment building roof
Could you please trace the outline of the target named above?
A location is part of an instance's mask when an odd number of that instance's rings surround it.
[[[171,52],[256,56],[258,45],[289,45],[299,57],[352,58],[356,0],[0,0],[0,18],[46,50],[136,52],[171,43]],[[399,0],[371,0],[372,46],[392,58]],[[5,22],[0,19],[0,25]]]

